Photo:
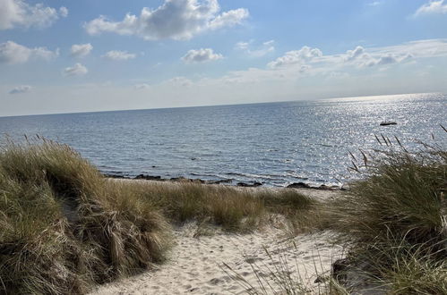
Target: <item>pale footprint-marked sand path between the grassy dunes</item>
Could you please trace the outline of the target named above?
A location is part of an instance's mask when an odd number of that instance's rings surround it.
[[[109,283],[91,294],[245,294],[246,287],[226,274],[223,263],[260,288],[255,271],[267,279],[285,262],[295,280],[301,278],[309,290],[318,291],[324,283],[314,282],[316,273],[328,274],[331,263],[341,256],[341,249],[327,242],[329,232],[300,235],[294,245],[291,240],[283,240],[284,232],[276,229],[199,238],[193,237],[195,231],[193,224],[176,231],[176,246],[158,270]],[[272,293],[269,287],[267,290]]]

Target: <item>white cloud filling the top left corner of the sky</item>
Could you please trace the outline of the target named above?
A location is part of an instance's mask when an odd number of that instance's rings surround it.
[[[68,10],[64,6],[58,12],[44,4],[30,5],[23,0],[0,0],[0,30],[15,27],[46,28],[67,15]]]

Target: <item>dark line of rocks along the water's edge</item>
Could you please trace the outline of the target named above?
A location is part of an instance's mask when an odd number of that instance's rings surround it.
[[[145,180],[145,181],[172,181],[172,182],[191,182],[191,183],[201,183],[201,184],[225,184],[225,185],[236,185],[237,187],[245,187],[245,188],[255,188],[261,187],[263,185],[262,182],[259,181],[251,181],[251,182],[242,182],[238,181],[236,184],[233,184],[232,179],[227,180],[217,180],[217,181],[208,181],[202,179],[193,179],[186,177],[172,177],[172,178],[162,178],[159,175],[148,175],[148,174],[139,174],[135,177],[103,173],[103,175],[107,178],[115,178],[115,179],[126,179],[126,180]],[[328,186],[328,185],[320,185],[320,186],[312,186],[305,182],[293,182],[288,184],[285,188],[288,189],[308,189],[308,190],[347,190],[346,186]]]

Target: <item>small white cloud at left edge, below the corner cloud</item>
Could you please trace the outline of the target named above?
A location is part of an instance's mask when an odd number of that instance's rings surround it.
[[[26,63],[30,59],[50,60],[58,55],[58,49],[50,51],[46,47],[28,48],[13,41],[0,44],[0,63]]]

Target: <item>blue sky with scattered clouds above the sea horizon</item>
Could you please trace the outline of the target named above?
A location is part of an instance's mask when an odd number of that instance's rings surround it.
[[[447,0],[0,0],[0,116],[447,92]]]

